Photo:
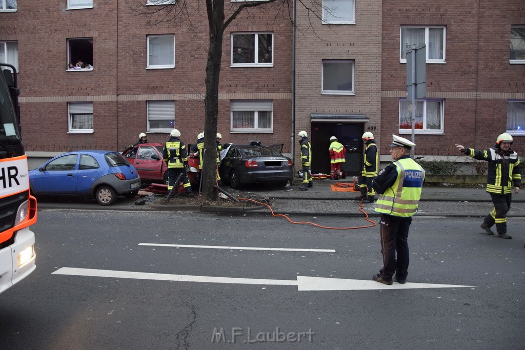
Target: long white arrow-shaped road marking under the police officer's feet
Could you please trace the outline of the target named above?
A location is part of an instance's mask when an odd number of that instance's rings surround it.
[[[371,280],[347,280],[341,278],[297,276],[297,280],[269,280],[258,278],[213,277],[185,274],[151,273],[134,271],[98,270],[83,268],[60,268],[53,274],[129,278],[139,280],[175,281],[175,282],[205,282],[229,284],[259,284],[259,285],[296,285],[298,291],[337,291],[337,290],[387,290],[387,289],[420,289],[420,288],[464,288],[473,285],[430,284],[430,283],[405,283],[394,282],[385,285]]]

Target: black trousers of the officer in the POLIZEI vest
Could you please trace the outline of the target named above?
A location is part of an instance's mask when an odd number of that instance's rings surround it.
[[[394,273],[397,280],[406,280],[409,262],[408,229],[411,223],[412,217],[381,215],[383,268],[379,270],[379,275],[385,281],[392,281]]]

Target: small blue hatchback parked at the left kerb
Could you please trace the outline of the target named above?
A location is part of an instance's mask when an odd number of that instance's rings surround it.
[[[112,151],[64,153],[29,172],[29,186],[36,196],[94,196],[101,205],[113,204],[117,195],[136,196],[140,185],[133,165]]]

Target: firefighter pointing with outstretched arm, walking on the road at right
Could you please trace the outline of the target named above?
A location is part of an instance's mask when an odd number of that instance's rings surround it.
[[[510,209],[512,190],[518,194],[521,186],[522,164],[518,154],[510,149],[511,145],[512,136],[506,132],[500,134],[496,145],[488,150],[475,150],[456,145],[460,152],[488,162],[486,190],[492,198],[494,208],[483,220],[481,228],[487,232],[487,235],[493,236],[494,232],[490,228],[496,224],[498,237],[505,239],[512,239],[512,236],[507,234],[507,212]]]

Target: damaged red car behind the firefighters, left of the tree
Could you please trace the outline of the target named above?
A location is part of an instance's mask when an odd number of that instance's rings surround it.
[[[190,145],[186,146],[188,154]],[[128,160],[139,173],[142,182],[167,184],[167,166],[162,159],[162,143],[141,143],[132,149],[122,152],[124,158]],[[198,158],[188,157],[186,169],[188,180],[194,186],[198,186],[200,172],[198,169]]]

